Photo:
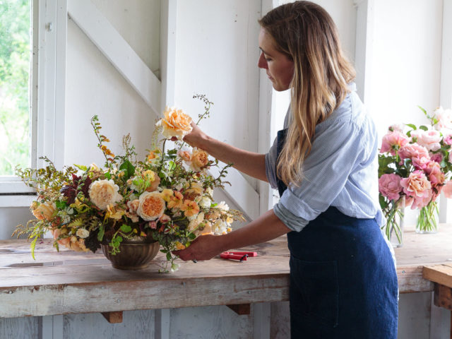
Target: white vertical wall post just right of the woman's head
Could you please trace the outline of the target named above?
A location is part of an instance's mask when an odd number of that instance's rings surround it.
[[[357,93],[367,107],[371,107],[371,67],[374,39],[374,0],[355,0],[356,48],[355,69]]]

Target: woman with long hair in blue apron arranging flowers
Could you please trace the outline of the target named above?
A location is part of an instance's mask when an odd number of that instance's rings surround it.
[[[198,237],[174,253],[208,260],[287,233],[292,338],[396,338],[397,276],[379,229],[376,129],[333,20],[296,1],[259,23],[258,66],[275,90],[292,91],[285,129],[266,155],[197,126],[184,140],[278,187],[280,202],[239,230]]]

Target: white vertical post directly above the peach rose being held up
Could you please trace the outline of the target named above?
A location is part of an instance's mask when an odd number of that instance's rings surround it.
[[[177,0],[162,0],[160,4],[160,74],[162,99],[160,112],[174,105],[176,84]]]

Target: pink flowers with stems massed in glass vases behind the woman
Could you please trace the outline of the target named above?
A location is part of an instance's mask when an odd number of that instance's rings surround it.
[[[397,216],[403,207],[420,209],[418,232],[436,230],[436,198],[452,196],[452,109],[439,107],[432,115],[420,107],[429,126],[393,125],[383,136],[379,155],[380,205],[386,215],[386,235],[393,230],[400,242]]]

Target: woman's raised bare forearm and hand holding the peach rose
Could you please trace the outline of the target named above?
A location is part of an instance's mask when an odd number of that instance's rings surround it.
[[[242,173],[268,182],[265,155],[241,150],[227,143],[222,143],[203,133],[196,124],[192,123],[191,126],[193,127],[193,131],[184,137],[186,143],[205,150],[222,162],[232,162],[234,164],[233,167]]]

